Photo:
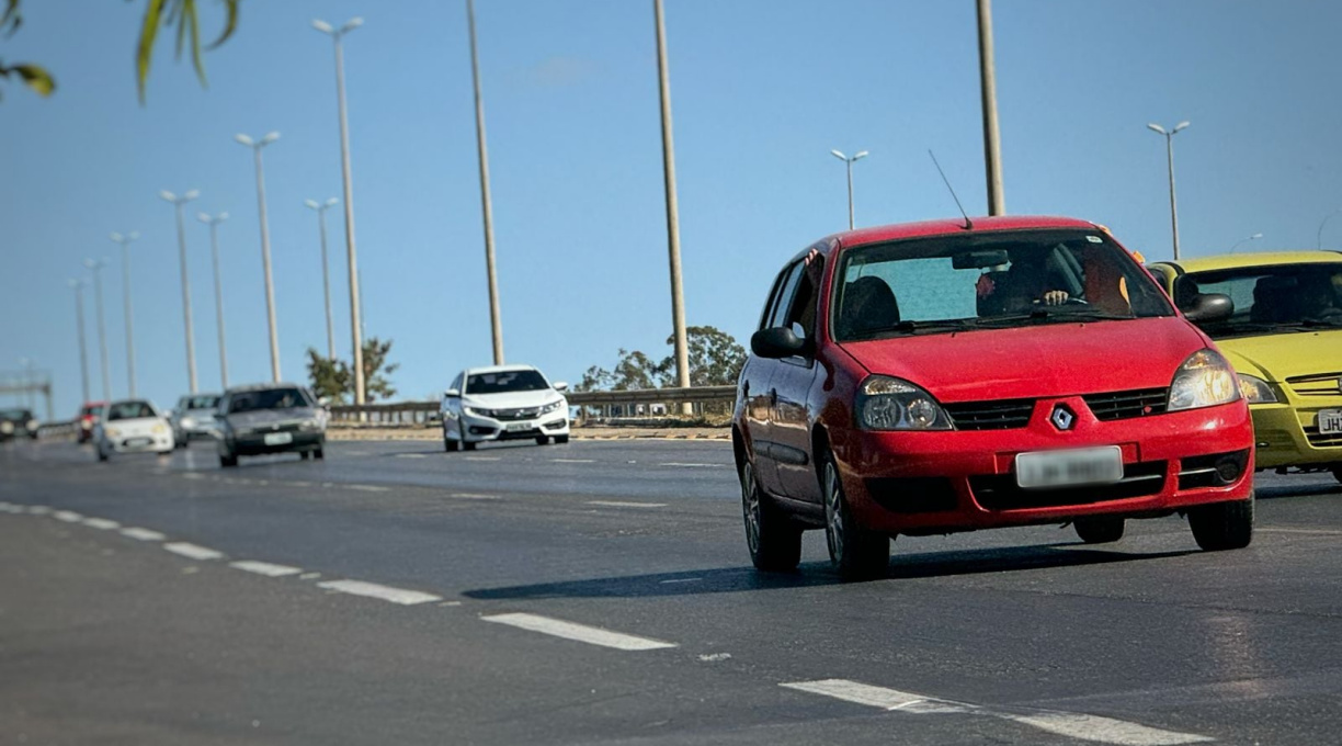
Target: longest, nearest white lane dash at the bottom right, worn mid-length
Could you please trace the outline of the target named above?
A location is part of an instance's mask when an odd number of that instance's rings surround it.
[[[879,707],[914,715],[969,714],[1000,718],[1015,723],[1036,727],[1057,735],[1080,741],[1113,743],[1114,746],[1181,746],[1184,743],[1205,743],[1213,741],[1206,735],[1180,733],[1157,727],[1087,715],[1084,712],[1059,712],[1053,710],[1029,710],[1013,707],[997,710],[965,702],[951,702],[923,696],[921,694],[875,687],[848,679],[823,679],[817,682],[792,682],[778,684],[785,688],[832,696],[844,702]]]

